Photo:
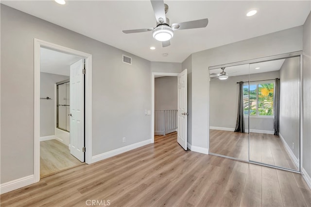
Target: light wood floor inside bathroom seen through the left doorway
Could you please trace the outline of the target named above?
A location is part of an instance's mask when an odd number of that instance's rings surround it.
[[[68,146],[56,139],[40,141],[40,177],[82,165],[70,154]]]

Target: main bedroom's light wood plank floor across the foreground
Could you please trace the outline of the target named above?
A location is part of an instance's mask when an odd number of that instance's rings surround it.
[[[297,173],[184,151],[176,133],[103,161],[82,165],[1,195],[6,206],[113,207],[311,206]]]

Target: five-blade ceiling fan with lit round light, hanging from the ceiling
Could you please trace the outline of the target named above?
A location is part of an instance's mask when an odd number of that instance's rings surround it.
[[[123,30],[125,34],[129,33],[142,33],[153,31],[153,37],[162,42],[162,47],[167,47],[171,45],[170,39],[174,35],[175,30],[185,30],[193,28],[206,27],[208,24],[208,19],[199,19],[194,21],[187,21],[181,23],[173,23],[170,26],[170,19],[165,16],[169,10],[169,6],[164,4],[163,0],[151,0],[152,8],[155,13],[156,27],[138,29],[138,30]]]

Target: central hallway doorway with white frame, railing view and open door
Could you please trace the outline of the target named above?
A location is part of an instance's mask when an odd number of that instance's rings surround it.
[[[174,76],[176,77],[175,101],[173,101],[174,89],[171,90],[171,87],[174,87]],[[172,103],[170,103],[171,101]],[[165,135],[177,131],[177,142],[187,150],[187,69],[181,73],[152,73],[151,115],[153,143],[155,135]]]

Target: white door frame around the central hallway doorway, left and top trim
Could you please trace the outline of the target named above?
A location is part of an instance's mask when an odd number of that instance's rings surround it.
[[[155,143],[155,76],[178,76],[174,72],[152,72],[151,73],[151,143]],[[177,92],[177,91],[176,91]]]

